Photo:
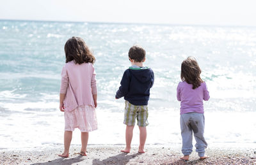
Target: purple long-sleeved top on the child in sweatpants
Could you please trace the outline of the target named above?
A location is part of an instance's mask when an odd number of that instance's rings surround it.
[[[209,91],[206,83],[192,89],[193,85],[187,82],[180,82],[177,87],[177,99],[180,102],[180,115],[189,112],[204,113],[203,100],[209,100]]]

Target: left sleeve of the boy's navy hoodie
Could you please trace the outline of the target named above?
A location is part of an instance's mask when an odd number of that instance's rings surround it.
[[[129,76],[128,70],[126,70],[124,72],[124,75],[123,75],[121,83],[120,83],[121,86],[119,87],[119,89],[116,92],[116,99],[119,99],[128,93],[130,82],[131,82],[131,78]]]

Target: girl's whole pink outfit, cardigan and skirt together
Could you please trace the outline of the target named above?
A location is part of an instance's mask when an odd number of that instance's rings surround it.
[[[97,129],[93,94],[97,94],[96,73],[93,64],[67,62],[61,72],[60,94],[65,94],[65,131],[81,132]]]

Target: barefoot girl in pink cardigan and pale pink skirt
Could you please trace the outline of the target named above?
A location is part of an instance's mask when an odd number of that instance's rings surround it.
[[[97,107],[96,73],[93,67],[95,57],[83,39],[72,37],[65,44],[66,64],[61,72],[60,111],[64,111],[64,152],[68,157],[72,131],[81,131],[81,152],[86,155],[90,131],[97,129],[95,108]]]

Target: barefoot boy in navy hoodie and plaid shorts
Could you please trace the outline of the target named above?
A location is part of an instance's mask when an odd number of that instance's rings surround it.
[[[132,131],[138,120],[140,129],[140,146],[138,152],[143,154],[144,145],[147,138],[148,126],[148,99],[150,88],[154,83],[154,72],[152,69],[143,66],[146,52],[140,46],[133,46],[129,50],[129,61],[131,67],[126,69],[121,80],[121,86],[116,92],[116,99],[124,96],[125,114],[124,124],[126,124],[125,140],[126,148],[121,152],[129,153],[131,150]]]

